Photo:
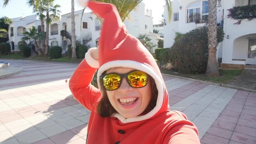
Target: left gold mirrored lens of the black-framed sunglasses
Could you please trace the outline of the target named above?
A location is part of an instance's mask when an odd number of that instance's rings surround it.
[[[103,85],[106,90],[116,90],[119,87],[121,77],[118,74],[107,74],[103,77]]]

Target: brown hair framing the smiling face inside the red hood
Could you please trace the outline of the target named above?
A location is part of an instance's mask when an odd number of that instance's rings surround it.
[[[103,73],[104,74],[104,73]],[[156,100],[158,95],[158,90],[156,88],[156,83],[154,79],[148,75],[149,83],[150,83],[150,89],[152,92],[150,103],[148,104],[148,107],[142,114],[147,114],[150,112],[155,106],[156,106]],[[114,112],[117,112],[114,107],[111,105],[110,101],[108,100],[107,92],[103,88],[102,80],[100,80],[100,86],[102,87],[101,93],[102,93],[102,99],[100,100],[98,106],[97,106],[97,112],[102,117],[108,117],[111,116]]]

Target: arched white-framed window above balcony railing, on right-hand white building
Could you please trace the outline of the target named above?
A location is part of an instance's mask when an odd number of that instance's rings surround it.
[[[205,23],[208,20],[208,1],[194,2],[187,8],[187,23]]]

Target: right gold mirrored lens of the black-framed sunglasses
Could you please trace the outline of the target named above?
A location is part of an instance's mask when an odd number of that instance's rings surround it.
[[[130,86],[141,88],[147,84],[147,74],[141,71],[131,72],[128,74],[128,81]]]

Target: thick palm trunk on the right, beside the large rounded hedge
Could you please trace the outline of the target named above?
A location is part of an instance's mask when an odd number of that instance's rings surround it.
[[[218,62],[216,58],[217,51],[217,0],[208,0],[208,63],[206,75],[219,76]]]

